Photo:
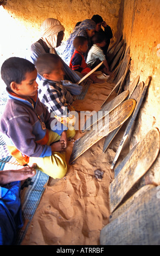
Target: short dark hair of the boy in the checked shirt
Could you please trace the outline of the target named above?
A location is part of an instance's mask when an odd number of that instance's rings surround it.
[[[43,76],[43,74],[50,74],[56,69],[57,63],[61,62],[61,58],[57,54],[43,53],[37,58],[35,63],[37,72]]]

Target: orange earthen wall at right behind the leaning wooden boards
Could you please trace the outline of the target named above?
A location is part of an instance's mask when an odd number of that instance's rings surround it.
[[[131,75],[140,81],[152,77],[149,90],[138,115],[132,134],[131,147],[152,128],[160,130],[160,4],[159,0],[124,0],[123,38],[130,46]],[[160,157],[153,164],[150,175],[160,184]]]

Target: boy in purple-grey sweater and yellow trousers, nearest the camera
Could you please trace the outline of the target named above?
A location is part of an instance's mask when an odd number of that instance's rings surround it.
[[[37,70],[27,59],[11,57],[2,64],[2,80],[9,99],[0,121],[0,131],[9,152],[21,164],[37,164],[37,169],[56,178],[67,172],[67,136],[72,131],[58,125],[37,96]],[[69,135],[69,133],[71,134]]]

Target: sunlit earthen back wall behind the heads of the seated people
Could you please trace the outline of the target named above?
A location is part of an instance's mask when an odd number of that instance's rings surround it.
[[[18,46],[19,50],[28,48],[30,43],[39,39],[41,23],[48,17],[58,19],[65,27],[66,40],[73,31],[76,22],[91,19],[94,14],[103,17],[111,26],[115,42],[121,25],[121,0],[8,0],[0,8],[0,23],[2,33],[1,45]],[[4,8],[4,11],[1,9]],[[15,43],[16,41],[16,43]],[[12,50],[13,51],[13,50]]]

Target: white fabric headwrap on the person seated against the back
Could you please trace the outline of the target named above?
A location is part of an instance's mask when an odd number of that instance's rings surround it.
[[[56,47],[57,35],[59,32],[65,31],[65,28],[61,25],[60,21],[53,18],[48,18],[43,21],[40,30],[41,39],[46,42],[50,50],[54,50],[52,48]]]

